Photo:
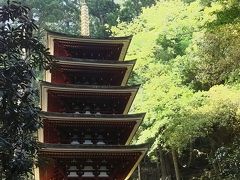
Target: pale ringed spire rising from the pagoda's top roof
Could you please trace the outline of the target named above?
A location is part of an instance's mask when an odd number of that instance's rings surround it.
[[[81,4],[81,35],[90,36],[89,12],[88,12],[88,6],[85,0],[82,0],[82,4]]]

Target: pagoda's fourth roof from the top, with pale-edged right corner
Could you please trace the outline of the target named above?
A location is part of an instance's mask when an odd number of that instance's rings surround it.
[[[82,124],[100,127],[101,125],[113,125],[125,127],[125,133],[123,137],[123,143],[129,144],[132,141],[133,136],[138,130],[140,124],[143,121],[145,113],[141,114],[129,114],[129,115],[112,115],[112,114],[75,114],[75,113],[56,113],[56,112],[41,112],[40,117],[45,119],[47,122],[53,124]],[[133,125],[134,124],[134,125]],[[110,126],[111,127],[111,126]],[[131,127],[130,130],[128,130]],[[126,129],[127,128],[127,129]]]

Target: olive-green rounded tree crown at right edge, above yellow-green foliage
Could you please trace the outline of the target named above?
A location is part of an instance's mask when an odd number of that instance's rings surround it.
[[[184,62],[185,81],[196,90],[239,82],[239,35],[239,24],[196,33]]]

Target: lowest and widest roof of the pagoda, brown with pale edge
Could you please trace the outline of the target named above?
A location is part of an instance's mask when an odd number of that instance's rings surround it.
[[[141,145],[71,145],[71,144],[40,144],[39,154],[53,159],[103,159],[115,161],[131,160],[127,169],[121,172],[121,179],[129,179],[148,150],[147,144]],[[117,169],[119,167],[116,167]],[[115,171],[116,172],[116,171]],[[116,175],[116,174],[115,174]]]

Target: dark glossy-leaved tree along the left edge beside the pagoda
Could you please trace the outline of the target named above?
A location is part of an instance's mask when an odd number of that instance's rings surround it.
[[[30,10],[7,1],[0,9],[0,165],[2,179],[26,179],[37,162],[35,68],[48,68],[48,49],[33,36]],[[24,178],[25,177],[25,178]]]

